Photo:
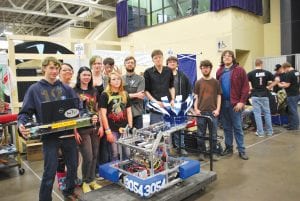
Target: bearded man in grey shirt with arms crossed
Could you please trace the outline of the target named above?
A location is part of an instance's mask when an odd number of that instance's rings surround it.
[[[133,127],[143,128],[143,101],[145,90],[144,77],[137,75],[134,70],[136,60],[133,56],[128,56],[124,60],[126,75],[123,75],[124,87],[128,92],[131,101],[131,110],[133,116]]]

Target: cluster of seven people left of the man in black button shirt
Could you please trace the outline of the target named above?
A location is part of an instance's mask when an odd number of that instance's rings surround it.
[[[79,68],[72,86],[74,70],[70,64],[61,64],[54,57],[42,61],[44,78],[29,87],[18,115],[22,136],[30,135],[26,124],[33,115],[37,123],[42,122],[41,104],[47,101],[78,98],[80,116],[90,116],[92,125],[42,136],[44,172],[39,200],[52,200],[55,175],[65,169],[64,164],[67,172],[62,193],[65,200],[78,197],[74,191],[78,148],[82,155],[83,191],[101,187],[96,182],[97,166],[118,159],[116,140],[122,135],[120,128],[142,127],[143,124],[144,78],[135,74],[135,64],[134,57],[127,57],[124,61],[127,73],[122,76],[112,58],[102,60],[100,56],[93,56],[90,67]]]

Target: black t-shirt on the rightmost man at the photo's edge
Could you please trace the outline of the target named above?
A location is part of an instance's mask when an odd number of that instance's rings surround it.
[[[287,96],[297,96],[299,95],[299,83],[300,75],[296,70],[292,70],[286,73],[285,82],[291,83],[289,87],[285,88]]]

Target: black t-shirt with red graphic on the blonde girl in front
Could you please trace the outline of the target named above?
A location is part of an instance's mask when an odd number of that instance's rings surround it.
[[[109,128],[114,132],[119,132],[119,128],[125,128],[128,124],[127,108],[131,107],[130,98],[128,94],[127,102],[122,102],[122,97],[119,93],[113,93],[109,96],[105,91],[101,94],[99,100],[99,107],[106,108],[106,117]]]

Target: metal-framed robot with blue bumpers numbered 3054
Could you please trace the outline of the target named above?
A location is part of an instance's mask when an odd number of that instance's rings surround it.
[[[151,197],[200,172],[200,162],[169,156],[171,134],[187,123],[170,127],[159,122],[142,129],[125,128],[117,141],[120,161],[100,165],[103,178],[118,183],[141,197]],[[130,150],[129,157],[123,153]]]

